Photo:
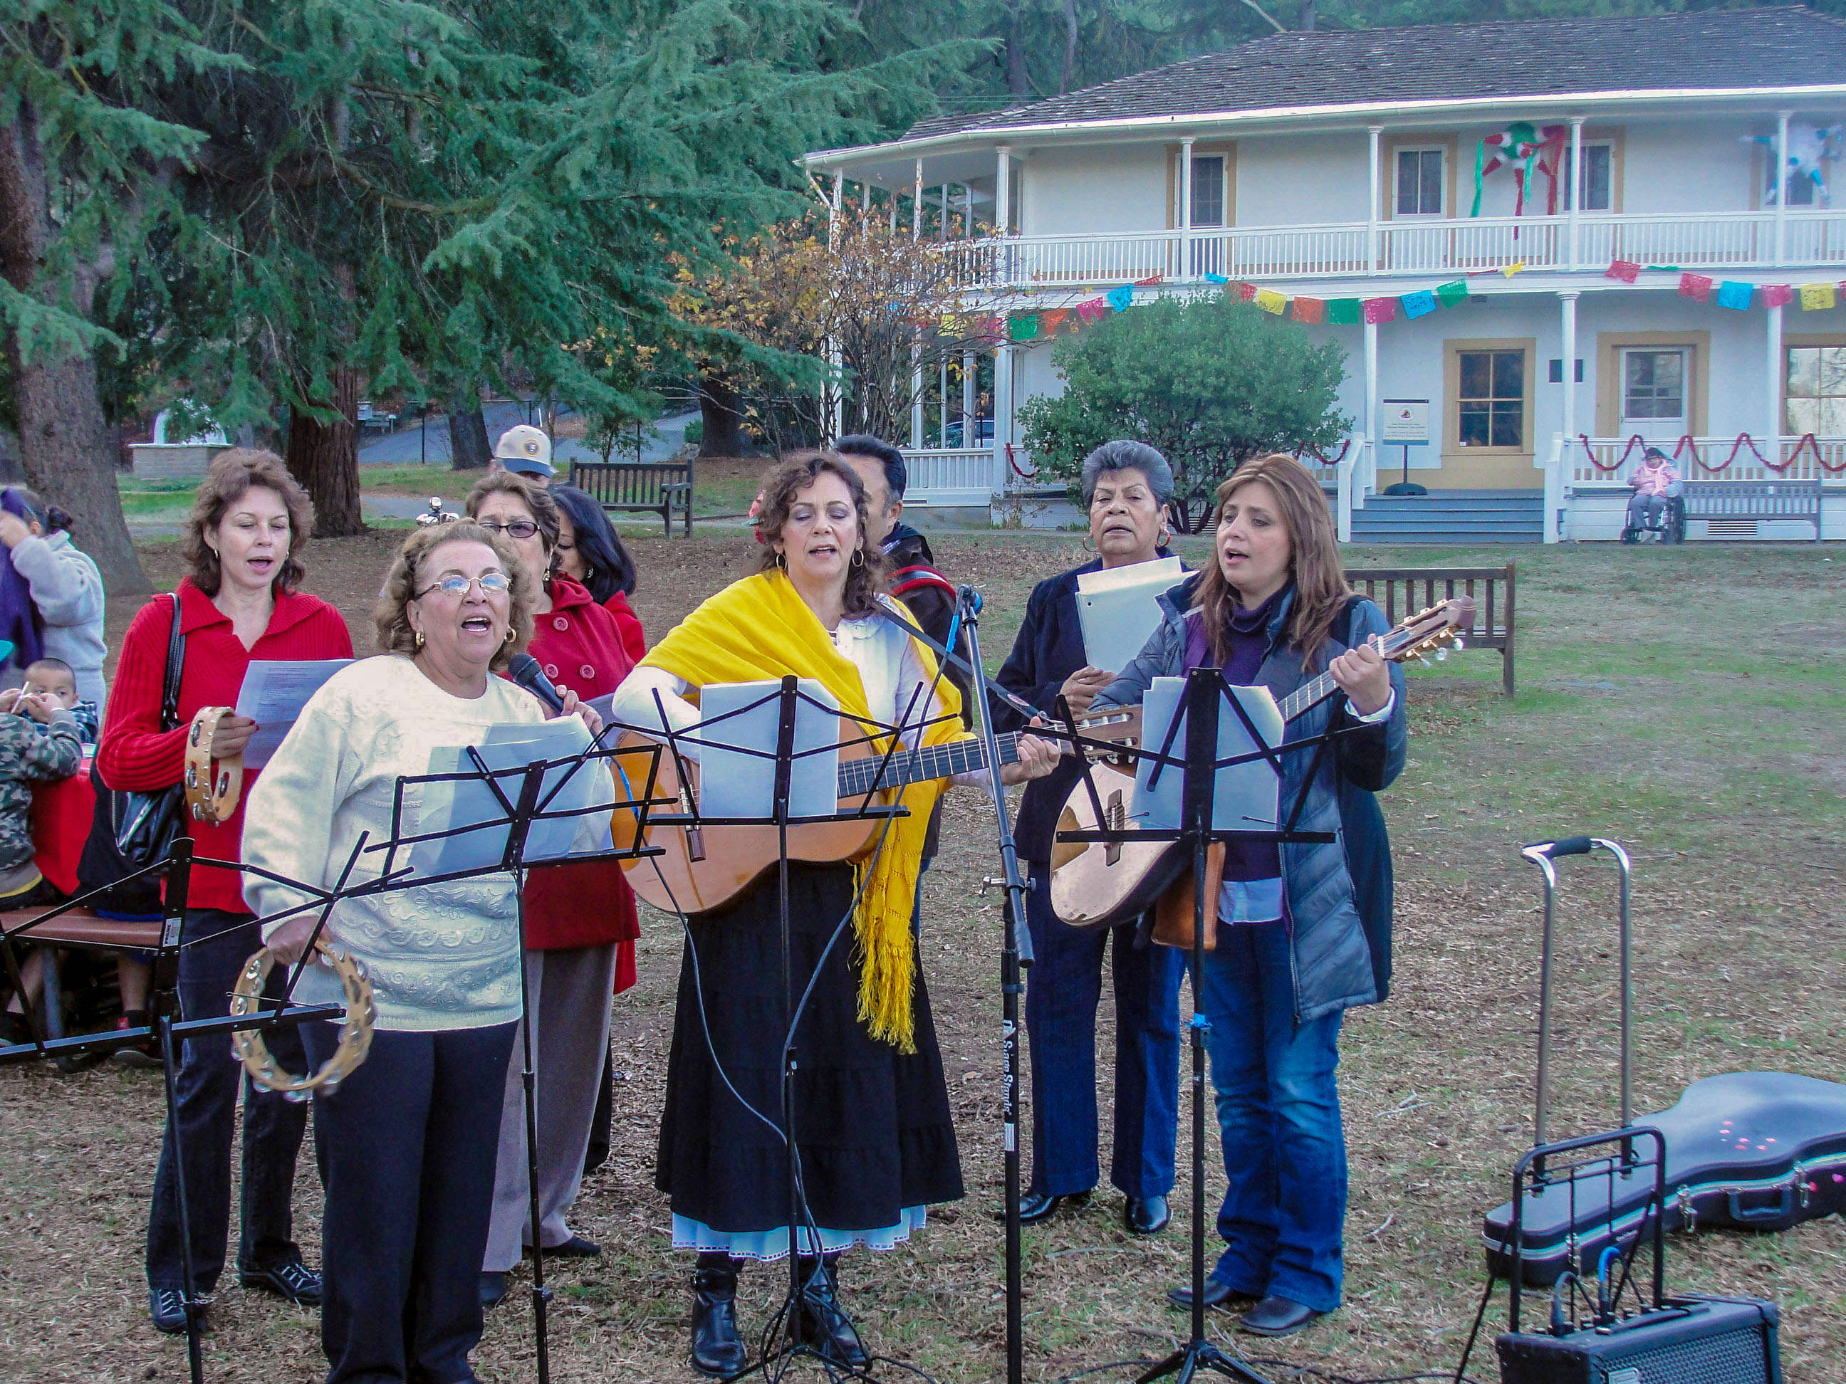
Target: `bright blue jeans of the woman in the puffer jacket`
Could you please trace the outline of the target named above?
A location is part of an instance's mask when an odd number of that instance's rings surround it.
[[[1218,1096],[1229,1183],[1218,1211],[1224,1253],[1211,1277],[1252,1297],[1316,1312],[1340,1305],[1346,1135],[1340,1127],[1340,1015],[1294,1022],[1285,923],[1218,925],[1196,985]]]

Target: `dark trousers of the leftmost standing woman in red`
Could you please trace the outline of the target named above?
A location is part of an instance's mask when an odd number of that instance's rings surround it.
[[[262,950],[257,919],[216,908],[186,912],[179,952],[179,1017],[216,1019],[231,1013],[231,987],[238,971]],[[270,972],[270,996],[281,996],[286,967]],[[301,1033],[273,1028],[264,1041],[290,1072],[306,1070]],[[231,1231],[231,1131],[238,1091],[244,1092],[244,1192],[240,1268],[275,1268],[301,1259],[294,1240],[290,1199],[295,1188],[295,1153],[308,1127],[308,1107],[262,1091],[244,1076],[231,1056],[231,1035],[186,1039],[174,1078],[179,1129],[166,1127],[161,1163],[153,1174],[153,1205],[148,1214],[148,1286],[185,1284],[185,1253],[179,1235],[179,1179],[175,1151],[185,1159],[186,1220],[192,1227],[192,1270],[199,1292],[210,1292],[225,1266]]]

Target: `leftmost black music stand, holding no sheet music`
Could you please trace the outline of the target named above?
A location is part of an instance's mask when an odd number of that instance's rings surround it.
[[[87,908],[92,901],[100,899],[109,889],[118,884],[129,884],[133,880],[148,878],[151,875],[166,877],[166,889],[162,891],[161,902],[161,941],[155,947],[153,965],[161,974],[174,974],[179,963],[179,952],[192,943],[181,941],[181,928],[186,917],[186,893],[192,880],[192,867],[205,865],[212,869],[234,869],[244,871],[246,865],[225,860],[212,860],[207,856],[194,858],[192,840],[181,836],[175,840],[166,853],[166,858],[151,865],[142,865],[131,875],[124,875],[113,884],[85,889],[65,902],[48,908],[39,917],[20,923],[17,928],[7,928],[0,932],[0,960],[6,963],[6,971],[15,989],[20,987],[20,969],[18,954],[15,950],[15,939],[30,934],[31,930],[52,923],[65,913]],[[351,875],[353,862],[347,862],[347,875]],[[251,869],[251,873],[270,875],[268,871]],[[338,891],[314,889],[312,886],[301,884],[297,880],[284,880],[279,875],[270,875],[270,878],[281,880],[299,888],[303,893],[316,895],[308,908],[321,908],[321,923],[327,921],[327,913],[332,912],[332,904],[338,901]],[[342,884],[345,877],[342,877]],[[299,912],[299,910],[297,910]],[[319,936],[319,925],[316,925],[316,936]],[[312,945],[312,943],[310,943]],[[299,974],[299,967],[297,967]],[[236,1033],[247,1030],[275,1030],[275,1028],[294,1028],[308,1022],[310,1019],[342,1019],[345,1009],[338,1004],[306,1004],[292,1006],[290,995],[294,993],[294,976],[288,982],[279,1002],[268,1013],[262,1011],[264,1006],[271,1004],[264,1000],[258,1004],[258,1013],[251,1015],[220,1015],[216,1019],[186,1019],[175,1022],[172,1015],[161,1015],[157,1022],[146,1028],[116,1028],[105,1033],[79,1033],[74,1037],[48,1039],[44,1035],[44,1024],[39,1015],[33,1013],[33,1006],[22,1004],[26,1011],[26,1020],[31,1026],[33,1041],[0,1046],[0,1063],[7,1061],[30,1061],[35,1057],[59,1057],[59,1056],[79,1056],[87,1052],[109,1052],[124,1043],[133,1043],[138,1039],[155,1039],[161,1044],[161,1080],[166,1096],[166,1122],[168,1129],[174,1131],[174,1194],[179,1201],[179,1262],[181,1273],[185,1275],[185,1284],[181,1288],[181,1305],[186,1314],[186,1367],[190,1371],[192,1384],[203,1384],[205,1380],[205,1299],[199,1294],[198,1271],[192,1264],[192,1218],[186,1211],[186,1168],[185,1157],[179,1150],[179,1044],[186,1039],[207,1039],[223,1033]],[[20,991],[24,998],[24,991]]]

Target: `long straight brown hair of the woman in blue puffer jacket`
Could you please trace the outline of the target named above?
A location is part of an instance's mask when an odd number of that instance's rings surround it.
[[[1255,482],[1263,482],[1276,493],[1281,522],[1289,530],[1289,579],[1294,581],[1294,605],[1289,611],[1287,640],[1301,651],[1301,666],[1314,672],[1320,662],[1320,646],[1327,642],[1333,622],[1340,618],[1346,600],[1353,594],[1340,563],[1340,539],[1327,509],[1327,495],[1307,467],[1292,456],[1270,452],[1244,461],[1228,482],[1218,485],[1213,526],[1224,513],[1224,502]],[[1224,579],[1224,567],[1218,563],[1217,552],[1213,552],[1211,563],[1193,592],[1193,609],[1205,622],[1205,637],[1211,640],[1211,653],[1218,662],[1224,662],[1231,653],[1228,631],[1235,594],[1231,583]]]

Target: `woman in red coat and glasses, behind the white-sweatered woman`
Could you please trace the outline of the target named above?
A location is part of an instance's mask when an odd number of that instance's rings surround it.
[[[541,574],[532,657],[559,692],[589,701],[615,692],[633,668],[615,616],[576,581],[556,576],[557,506],[545,487],[495,471],[467,496],[469,519],[506,537],[528,572]],[[583,1181],[596,1094],[609,1052],[609,995],[635,984],[635,895],[613,860],[537,865],[526,877],[526,974],[533,1017],[539,1105],[539,1242],[548,1253],[600,1255],[565,1220]],[[515,1046],[513,1052],[521,1052]],[[530,1244],[524,1091],[515,1061],[500,1113],[493,1225],[482,1260],[482,1301],[506,1294],[506,1275]]]

